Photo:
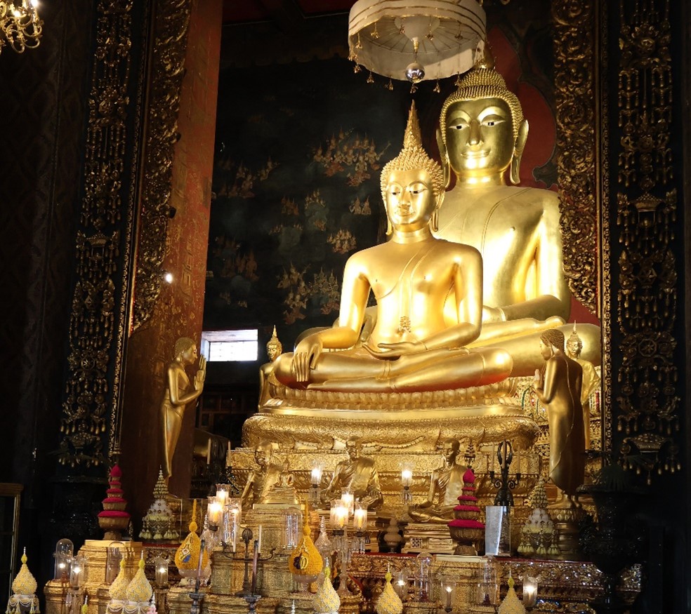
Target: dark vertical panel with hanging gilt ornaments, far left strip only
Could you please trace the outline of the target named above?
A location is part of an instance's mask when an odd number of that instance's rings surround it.
[[[123,207],[127,119],[131,115],[133,1],[98,3],[95,59],[88,94],[84,196],[77,232],[77,284],[70,317],[69,374],[62,404],[59,459],[98,465],[112,424],[115,351],[121,349],[121,250],[132,228]],[[125,236],[123,236],[123,234]],[[117,287],[119,286],[119,287]]]

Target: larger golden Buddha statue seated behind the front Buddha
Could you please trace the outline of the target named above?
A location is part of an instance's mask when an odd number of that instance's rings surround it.
[[[496,345],[513,356],[513,376],[532,375],[539,331],[563,324],[571,294],[562,267],[559,197],[519,181],[528,135],[520,102],[494,61],[461,79],[445,100],[437,143],[447,186],[436,236],[473,246],[483,260],[482,334],[471,344]],[[567,331],[567,328],[563,329]],[[600,328],[581,327],[584,359],[600,363]]]

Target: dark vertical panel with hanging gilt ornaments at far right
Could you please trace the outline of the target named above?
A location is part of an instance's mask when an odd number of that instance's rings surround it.
[[[654,471],[680,469],[669,0],[620,0],[619,22],[617,428],[625,465],[650,483]]]

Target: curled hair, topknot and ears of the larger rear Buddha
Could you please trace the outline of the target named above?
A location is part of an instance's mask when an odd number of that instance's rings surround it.
[[[442,140],[446,145],[446,117],[454,102],[479,100],[480,98],[501,98],[511,110],[513,140],[518,138],[518,128],[523,121],[523,109],[518,96],[506,87],[504,77],[494,69],[494,57],[489,45],[485,45],[485,57],[473,66],[459,81],[458,88],[444,101],[439,118]]]

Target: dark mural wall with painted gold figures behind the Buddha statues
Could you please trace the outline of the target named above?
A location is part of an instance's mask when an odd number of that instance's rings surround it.
[[[530,27],[493,25],[489,41],[531,124],[522,185],[555,189],[548,11],[529,17]],[[439,159],[435,129],[455,79],[414,95],[402,81],[367,81],[342,58],[221,72],[205,330],[276,325],[289,349],[305,328],[334,323],[348,256],[385,239],[380,173],[400,151],[410,102]]]

